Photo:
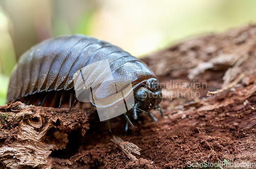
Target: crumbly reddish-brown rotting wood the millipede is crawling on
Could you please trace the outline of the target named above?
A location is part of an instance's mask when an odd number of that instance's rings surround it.
[[[224,159],[255,163],[256,25],[186,40],[143,61],[156,73],[163,87],[164,116],[152,111],[158,122],[140,114],[138,120],[133,120],[137,128],[129,126],[125,132],[125,119],[118,116],[111,119],[110,132],[108,124],[99,122],[96,113],[88,118],[88,109],[8,104],[0,107],[2,166],[184,168],[188,161]],[[168,83],[196,86],[170,87]],[[207,91],[218,89],[222,90],[206,96]],[[191,91],[200,95],[185,93]],[[177,96],[179,92],[185,95]],[[31,130],[22,132],[24,124]],[[29,134],[34,130],[36,134]],[[114,143],[113,135],[123,142]],[[122,151],[121,146],[128,142],[141,149],[140,155],[132,153],[135,159]],[[14,151],[17,145],[32,148],[20,149],[24,154],[17,157]],[[23,155],[30,163],[26,163]]]

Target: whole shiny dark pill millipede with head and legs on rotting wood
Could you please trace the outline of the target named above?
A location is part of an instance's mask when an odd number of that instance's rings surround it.
[[[107,67],[102,66],[104,60],[108,62]],[[93,98],[104,100],[122,93],[121,99],[126,107],[122,113],[132,126],[131,115],[137,119],[138,112],[145,112],[154,119],[150,110],[161,112],[161,86],[153,71],[119,47],[84,35],[50,38],[25,52],[10,77],[7,102],[14,100],[48,107],[68,103],[72,107],[80,101],[75,90],[75,77],[79,72],[83,72],[83,84],[96,86]],[[111,83],[102,85],[110,76]],[[127,86],[131,88],[124,96],[122,91]],[[88,89],[92,90],[92,87]],[[127,109],[129,96],[134,100],[131,109]],[[120,97],[118,101],[107,99],[108,103],[99,106],[93,98],[89,98],[93,106],[107,110],[120,101]]]

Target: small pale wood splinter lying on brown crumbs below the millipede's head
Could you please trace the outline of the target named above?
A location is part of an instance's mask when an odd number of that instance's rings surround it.
[[[129,141],[123,141],[120,137],[113,135],[111,139],[117,146],[122,150],[122,152],[131,160],[138,160],[132,153],[140,155],[141,149],[134,143]]]

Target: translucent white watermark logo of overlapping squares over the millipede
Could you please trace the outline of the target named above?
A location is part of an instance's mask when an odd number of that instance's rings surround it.
[[[100,121],[119,116],[134,106],[132,82],[114,78],[106,59],[79,69],[73,79],[77,100],[92,103]]]

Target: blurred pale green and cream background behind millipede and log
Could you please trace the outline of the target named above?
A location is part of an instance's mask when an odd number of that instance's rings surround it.
[[[86,34],[136,57],[177,40],[256,21],[254,0],[0,0],[0,105],[9,75],[32,45],[63,34]]]

